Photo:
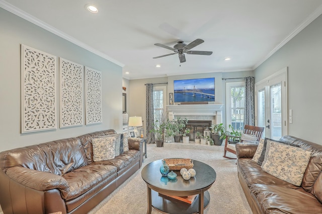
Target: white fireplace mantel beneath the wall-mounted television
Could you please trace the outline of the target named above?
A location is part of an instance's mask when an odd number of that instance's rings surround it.
[[[214,116],[216,124],[222,123],[223,104],[180,104],[167,105],[169,119],[175,116]]]

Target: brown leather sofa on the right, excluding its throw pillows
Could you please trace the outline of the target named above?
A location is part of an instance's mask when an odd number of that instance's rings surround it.
[[[301,186],[266,173],[252,161],[258,144],[236,144],[238,179],[253,213],[322,213],[322,145],[292,136],[279,141],[312,153]]]

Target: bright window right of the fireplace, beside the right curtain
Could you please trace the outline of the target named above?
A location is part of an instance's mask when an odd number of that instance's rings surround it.
[[[244,129],[245,82],[226,83],[226,123],[235,130]]]

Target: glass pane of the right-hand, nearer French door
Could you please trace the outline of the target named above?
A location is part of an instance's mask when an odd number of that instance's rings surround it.
[[[282,104],[281,83],[271,85],[271,138],[279,140],[282,137]]]

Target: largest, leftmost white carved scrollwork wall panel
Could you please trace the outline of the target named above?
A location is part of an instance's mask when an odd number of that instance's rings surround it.
[[[56,56],[21,45],[21,132],[56,129]]]

